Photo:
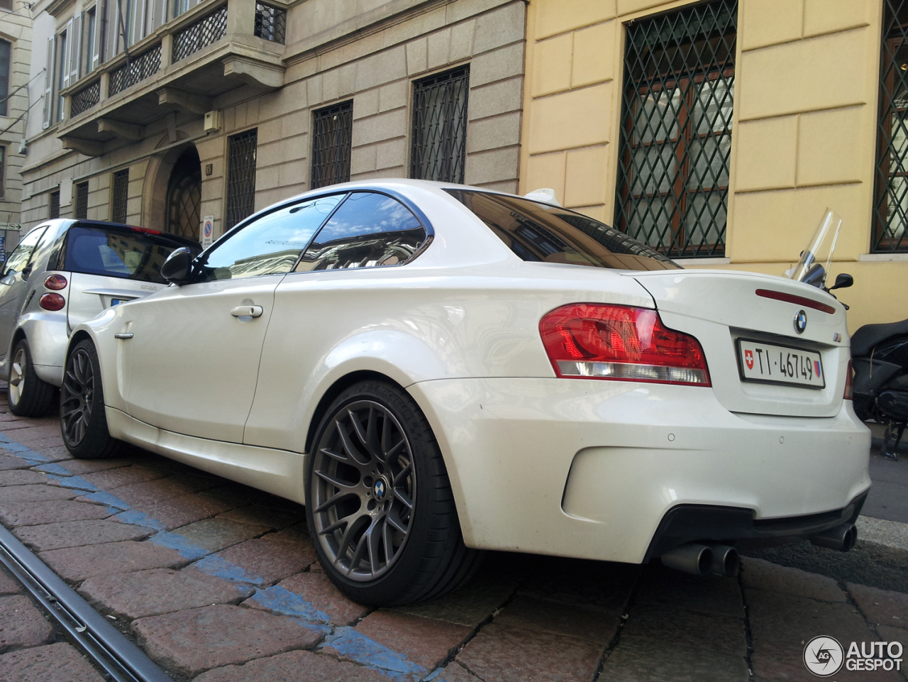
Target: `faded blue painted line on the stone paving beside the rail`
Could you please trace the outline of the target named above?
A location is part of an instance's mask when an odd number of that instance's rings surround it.
[[[113,518],[121,523],[157,530],[158,532],[148,540],[160,547],[176,549],[183,558],[192,560],[193,568],[217,578],[255,586],[256,593],[252,596],[252,600],[263,608],[292,618],[302,628],[314,629],[325,635],[319,648],[333,647],[341,653],[341,656],[370,667],[391,679],[444,682],[439,677],[440,668],[429,673],[426,668],[413,663],[406,656],[365,637],[349,626],[334,628],[331,626],[331,618],[326,613],[316,608],[310,601],[301,598],[300,595],[277,585],[262,588],[265,581],[260,576],[249,573],[242,566],[225,558],[213,556],[211,550],[194,544],[179,532],[165,531],[165,526],[158,519],[154,519],[143,511],[133,509],[130,504],[114,494],[99,489],[87,480],[74,475],[63,464],[47,463],[44,455],[25,448],[24,445],[11,440],[2,432],[0,432],[0,448],[14,452],[16,457],[33,464],[35,469],[44,472],[59,485],[74,490],[84,490],[86,493],[83,496],[84,499],[104,505]]]

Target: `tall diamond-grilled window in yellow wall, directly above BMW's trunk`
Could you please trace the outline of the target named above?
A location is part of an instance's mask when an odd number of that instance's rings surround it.
[[[627,25],[615,225],[673,258],[722,256],[737,0]]]

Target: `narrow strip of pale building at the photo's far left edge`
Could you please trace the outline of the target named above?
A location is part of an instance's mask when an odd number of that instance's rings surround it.
[[[0,231],[15,228],[19,222],[19,171],[25,162],[20,145],[29,115],[31,54],[32,17],[27,4],[22,0],[0,2]],[[6,247],[14,245],[14,232],[6,235]]]

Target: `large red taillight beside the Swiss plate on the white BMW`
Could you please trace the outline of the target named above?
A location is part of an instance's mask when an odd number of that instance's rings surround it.
[[[710,385],[699,341],[654,310],[571,303],[542,318],[539,333],[559,377]]]

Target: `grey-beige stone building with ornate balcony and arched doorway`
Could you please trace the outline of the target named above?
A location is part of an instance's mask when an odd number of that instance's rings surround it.
[[[310,189],[313,170],[317,184],[517,190],[522,0],[41,0],[34,12],[31,75],[54,75],[28,125],[24,227],[59,202],[61,217],[194,236],[213,216],[216,237]]]

